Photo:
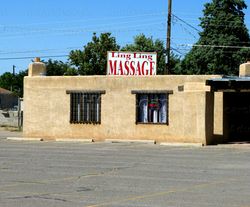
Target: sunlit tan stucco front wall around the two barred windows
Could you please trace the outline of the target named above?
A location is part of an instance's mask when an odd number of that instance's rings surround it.
[[[211,138],[206,133],[209,87],[205,86],[205,80],[212,77],[218,76],[25,77],[24,136],[206,144]],[[105,90],[101,124],[70,124],[70,96],[66,90]],[[132,90],[173,90],[169,95],[169,125],[136,125],[136,100]]]

